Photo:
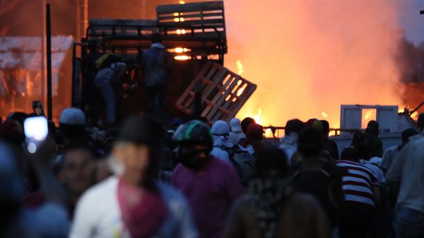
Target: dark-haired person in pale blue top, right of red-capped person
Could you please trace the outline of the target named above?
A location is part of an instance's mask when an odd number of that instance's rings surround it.
[[[304,122],[298,119],[288,120],[286,123],[285,135],[279,141],[279,149],[286,154],[288,165],[291,164],[291,157],[297,151],[297,138],[303,128]]]

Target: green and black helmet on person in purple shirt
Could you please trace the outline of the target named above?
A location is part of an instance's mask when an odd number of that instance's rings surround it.
[[[199,120],[190,120],[179,126],[172,138],[179,144],[201,144],[213,147],[211,129],[206,123]]]

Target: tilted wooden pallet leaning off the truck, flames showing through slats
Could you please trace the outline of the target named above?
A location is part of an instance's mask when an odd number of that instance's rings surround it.
[[[201,116],[212,124],[216,120],[229,121],[234,118],[256,90],[256,84],[209,61],[175,104],[187,115],[193,115],[195,88],[199,88],[202,95]]]

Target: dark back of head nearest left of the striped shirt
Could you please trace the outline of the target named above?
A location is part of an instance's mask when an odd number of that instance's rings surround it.
[[[300,132],[297,140],[297,150],[304,157],[316,157],[323,150],[323,134],[313,127],[307,127]]]

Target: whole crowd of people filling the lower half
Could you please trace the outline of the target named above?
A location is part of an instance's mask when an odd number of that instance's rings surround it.
[[[424,236],[424,114],[385,152],[370,121],[340,153],[324,120],[276,143],[252,118],[104,131],[76,108],[28,152],[34,116],[0,125],[0,237]]]

